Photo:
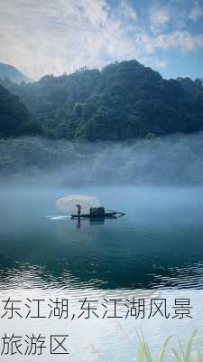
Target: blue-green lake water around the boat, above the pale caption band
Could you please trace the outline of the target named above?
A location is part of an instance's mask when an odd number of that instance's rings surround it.
[[[55,207],[73,192],[1,192],[1,288],[203,288],[202,189],[77,190],[126,213],[80,227]]]

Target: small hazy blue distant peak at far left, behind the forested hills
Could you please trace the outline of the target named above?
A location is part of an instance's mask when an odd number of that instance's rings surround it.
[[[13,65],[5,64],[0,62],[0,79],[8,78],[10,81],[14,83],[21,83],[24,81],[25,83],[32,82],[26,75],[24,75],[21,71],[18,71]]]

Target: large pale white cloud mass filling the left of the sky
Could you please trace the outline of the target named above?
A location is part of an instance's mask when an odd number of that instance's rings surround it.
[[[126,23],[105,0],[0,2],[1,61],[35,78],[139,58],[127,33],[127,22],[136,13],[125,1],[122,8]]]

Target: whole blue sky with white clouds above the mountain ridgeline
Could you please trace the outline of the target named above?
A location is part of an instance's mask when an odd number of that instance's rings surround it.
[[[0,0],[0,44],[33,80],[130,59],[203,78],[203,0]]]

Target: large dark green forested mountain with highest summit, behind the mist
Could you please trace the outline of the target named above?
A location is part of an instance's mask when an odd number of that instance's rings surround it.
[[[32,132],[46,137],[124,140],[203,129],[202,82],[164,80],[136,61],[3,84],[29,110]]]

